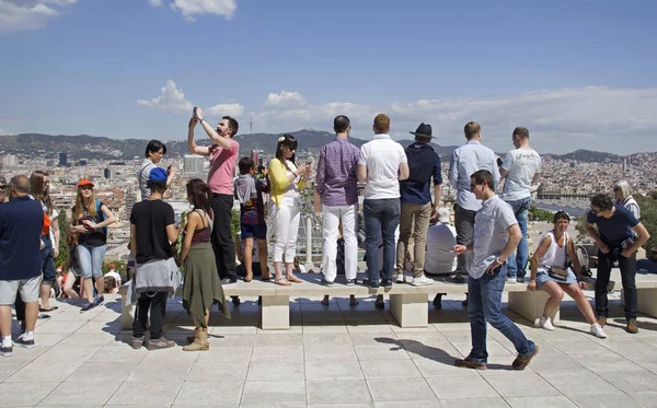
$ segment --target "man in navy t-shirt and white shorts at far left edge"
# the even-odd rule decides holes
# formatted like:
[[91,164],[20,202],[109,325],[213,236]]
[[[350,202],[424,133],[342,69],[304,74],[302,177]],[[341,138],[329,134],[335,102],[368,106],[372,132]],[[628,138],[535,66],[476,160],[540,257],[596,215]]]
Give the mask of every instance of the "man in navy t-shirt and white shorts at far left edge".
[[44,211],[28,197],[30,179],[15,176],[10,182],[9,202],[0,203],[0,355],[13,354],[11,305],[16,291],[25,303],[25,333],[16,342],[34,348],[34,325],[38,314],[41,279],[41,231]]

